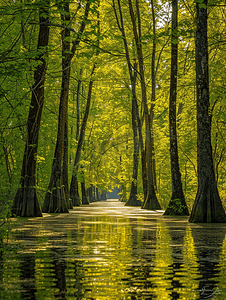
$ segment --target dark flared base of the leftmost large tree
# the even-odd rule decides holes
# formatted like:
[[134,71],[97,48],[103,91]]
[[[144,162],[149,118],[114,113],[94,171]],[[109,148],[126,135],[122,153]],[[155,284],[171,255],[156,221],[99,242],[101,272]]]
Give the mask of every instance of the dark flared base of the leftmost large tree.
[[42,217],[36,189],[33,187],[19,188],[11,212],[13,216],[18,217]]

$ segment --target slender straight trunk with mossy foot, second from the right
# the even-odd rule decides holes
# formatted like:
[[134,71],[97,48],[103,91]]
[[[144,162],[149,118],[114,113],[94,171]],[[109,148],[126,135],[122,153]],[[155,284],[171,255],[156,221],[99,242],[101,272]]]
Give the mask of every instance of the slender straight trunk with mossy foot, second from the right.
[[176,100],[177,100],[177,60],[178,60],[178,0],[172,0],[172,36],[171,36],[171,77],[169,99],[169,132],[170,132],[170,162],[172,195],[164,215],[189,215],[182,188],[179,167],[177,128],[176,128]]

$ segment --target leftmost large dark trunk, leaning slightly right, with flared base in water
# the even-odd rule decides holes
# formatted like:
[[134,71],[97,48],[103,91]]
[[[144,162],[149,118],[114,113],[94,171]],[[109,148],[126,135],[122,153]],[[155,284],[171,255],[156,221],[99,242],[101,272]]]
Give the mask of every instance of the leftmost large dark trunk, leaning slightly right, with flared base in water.
[[46,74],[46,47],[49,41],[49,1],[39,9],[39,36],[36,57],[39,62],[34,72],[31,104],[27,120],[27,140],[22,163],[20,188],[14,198],[12,214],[21,217],[41,217],[42,212],[35,188],[38,137],[44,103],[44,82]]

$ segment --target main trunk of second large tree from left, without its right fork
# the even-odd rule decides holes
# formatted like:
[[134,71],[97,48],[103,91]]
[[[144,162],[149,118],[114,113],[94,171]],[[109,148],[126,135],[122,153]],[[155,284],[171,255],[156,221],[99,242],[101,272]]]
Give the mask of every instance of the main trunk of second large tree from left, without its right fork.
[[[62,6],[64,13],[61,14],[61,20],[63,26],[70,22],[69,3],[65,2]],[[52,164],[52,171],[48,190],[45,195],[43,204],[43,212],[49,213],[67,213],[68,212],[68,191],[65,190],[68,186],[68,133],[65,130],[68,129],[68,95],[69,95],[69,82],[70,82],[70,42],[68,37],[70,36],[70,30],[66,27],[62,30],[62,82],[61,82],[61,95],[60,95],[60,107],[58,116],[58,132],[57,141],[54,153],[54,160]],[[65,148],[66,146],[66,148]],[[66,193],[65,193],[66,192]]]

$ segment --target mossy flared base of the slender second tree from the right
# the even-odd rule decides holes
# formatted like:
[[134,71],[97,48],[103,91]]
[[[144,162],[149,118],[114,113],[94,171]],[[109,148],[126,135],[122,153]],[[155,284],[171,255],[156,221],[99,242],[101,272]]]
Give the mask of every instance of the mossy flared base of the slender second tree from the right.
[[189,216],[185,199],[171,199],[164,216]]

